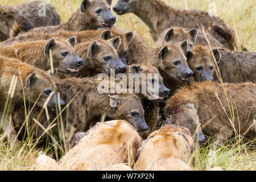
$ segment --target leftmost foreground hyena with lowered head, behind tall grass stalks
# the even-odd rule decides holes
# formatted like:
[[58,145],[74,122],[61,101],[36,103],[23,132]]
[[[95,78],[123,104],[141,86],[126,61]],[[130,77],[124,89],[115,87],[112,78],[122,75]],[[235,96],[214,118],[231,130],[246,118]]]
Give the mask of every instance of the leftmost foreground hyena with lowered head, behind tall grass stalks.
[[[33,74],[34,73],[34,74]],[[33,75],[33,76],[32,76]],[[38,97],[39,100],[36,104],[40,107],[43,107],[44,102],[47,100],[47,96],[43,94],[44,90],[50,89],[53,90],[53,82],[49,75],[41,69],[32,67],[22,61],[11,59],[8,57],[0,56],[0,116],[2,118],[4,107],[6,104],[7,96],[9,94],[9,88],[13,76],[16,76],[17,83],[15,87],[14,97],[11,100],[11,105],[9,107],[8,115],[4,123],[3,130],[10,134],[9,142],[14,142],[14,137],[16,133],[14,130],[13,121],[10,122],[10,114],[14,114],[14,106],[18,102],[22,103],[23,100],[23,90],[24,96],[27,101],[36,102]],[[22,82],[21,82],[22,81]],[[9,101],[10,102],[10,101]],[[23,111],[24,112],[24,111]],[[10,131],[9,131],[10,127]]]

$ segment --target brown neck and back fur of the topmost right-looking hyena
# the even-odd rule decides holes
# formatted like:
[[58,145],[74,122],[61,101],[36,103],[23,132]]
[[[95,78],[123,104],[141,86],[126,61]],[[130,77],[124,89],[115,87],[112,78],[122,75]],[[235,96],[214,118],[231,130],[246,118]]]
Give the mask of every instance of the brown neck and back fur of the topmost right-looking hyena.
[[[85,0],[87,1],[87,0]],[[84,31],[84,30],[97,30],[98,28],[104,28],[101,24],[95,10],[101,7],[104,10],[108,10],[110,5],[105,0],[90,0],[89,7],[85,10],[85,13],[81,13],[79,9],[69,18],[68,22],[61,23],[58,26],[47,26],[40,28],[33,28],[29,32],[41,32],[41,33],[56,33],[60,30],[65,31]]]

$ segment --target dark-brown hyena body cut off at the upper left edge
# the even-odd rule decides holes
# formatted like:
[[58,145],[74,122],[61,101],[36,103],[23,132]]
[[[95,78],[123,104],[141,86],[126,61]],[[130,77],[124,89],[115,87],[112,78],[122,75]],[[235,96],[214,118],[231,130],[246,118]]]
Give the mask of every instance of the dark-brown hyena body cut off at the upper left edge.
[[25,16],[18,13],[11,6],[0,5],[0,41],[5,41],[17,36],[20,32],[26,32],[35,28]]

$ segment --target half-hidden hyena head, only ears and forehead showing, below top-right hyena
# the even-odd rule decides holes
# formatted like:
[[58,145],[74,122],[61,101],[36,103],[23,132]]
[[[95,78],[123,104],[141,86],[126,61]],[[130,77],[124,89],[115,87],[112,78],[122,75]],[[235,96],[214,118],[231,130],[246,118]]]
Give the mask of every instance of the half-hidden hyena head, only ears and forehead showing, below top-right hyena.
[[197,38],[197,30],[185,30],[181,27],[174,27],[169,28],[163,32],[160,36],[159,40],[164,40],[164,42],[171,43],[171,44],[180,44],[187,40],[188,42],[188,51],[191,50],[193,44],[196,43]]

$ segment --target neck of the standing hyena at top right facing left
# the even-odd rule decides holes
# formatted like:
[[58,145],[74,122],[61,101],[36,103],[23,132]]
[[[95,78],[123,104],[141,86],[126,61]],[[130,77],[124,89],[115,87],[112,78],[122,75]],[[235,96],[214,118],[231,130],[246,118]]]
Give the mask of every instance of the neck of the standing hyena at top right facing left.
[[[159,17],[158,14],[164,11],[168,11],[170,14],[171,6],[167,6],[164,2],[160,1],[138,1],[140,4],[137,6],[137,9],[133,12],[137,15],[149,28],[151,32],[158,31],[158,22]],[[167,14],[166,14],[167,15]],[[163,21],[164,19],[162,19]]]

